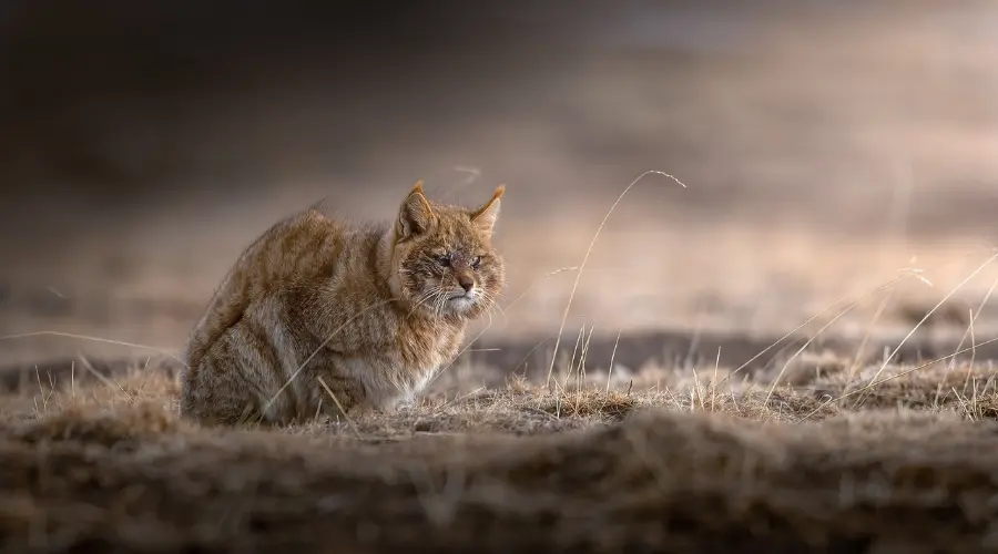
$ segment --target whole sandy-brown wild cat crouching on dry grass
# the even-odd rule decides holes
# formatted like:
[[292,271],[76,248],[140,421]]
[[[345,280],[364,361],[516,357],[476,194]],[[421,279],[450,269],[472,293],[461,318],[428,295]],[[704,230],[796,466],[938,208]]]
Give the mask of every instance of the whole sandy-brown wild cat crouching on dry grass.
[[411,403],[458,355],[466,326],[496,306],[503,192],[466,208],[430,202],[420,181],[390,225],[316,209],[275,224],[191,334],[182,416],[285,424]]

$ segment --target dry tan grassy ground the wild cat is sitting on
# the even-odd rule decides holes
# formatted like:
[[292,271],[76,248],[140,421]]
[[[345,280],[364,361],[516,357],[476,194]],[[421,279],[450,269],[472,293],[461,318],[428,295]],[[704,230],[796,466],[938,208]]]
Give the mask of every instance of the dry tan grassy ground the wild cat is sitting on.
[[879,368],[849,381],[812,366],[795,366],[796,386],[772,393],[736,379],[712,384],[722,368],[627,382],[562,375],[550,387],[451,383],[411,410],[269,431],[180,420],[169,363],[39,370],[0,397],[0,544],[998,547],[998,389],[988,366],[888,367],[868,393],[837,401]]

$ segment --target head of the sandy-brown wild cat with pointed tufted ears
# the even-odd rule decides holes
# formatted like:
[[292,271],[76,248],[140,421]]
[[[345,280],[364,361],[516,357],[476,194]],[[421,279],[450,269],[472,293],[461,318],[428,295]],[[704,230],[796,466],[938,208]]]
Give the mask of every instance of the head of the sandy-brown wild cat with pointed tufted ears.
[[398,211],[391,252],[396,294],[414,310],[472,319],[496,305],[506,274],[491,238],[503,191],[466,208],[430,202],[416,183]]

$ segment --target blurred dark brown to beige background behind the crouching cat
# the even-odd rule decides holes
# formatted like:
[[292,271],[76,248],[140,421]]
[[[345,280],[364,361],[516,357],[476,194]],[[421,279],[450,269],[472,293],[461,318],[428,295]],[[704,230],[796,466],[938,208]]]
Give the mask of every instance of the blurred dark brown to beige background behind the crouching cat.
[[624,197],[563,340],[764,341],[909,276],[823,331],[897,335],[970,276],[959,336],[998,276],[995,2],[7,0],[0,52],[0,335],[179,349],[276,219],[388,219],[419,178],[508,185],[492,345],[558,331],[648,170],[688,187]]

